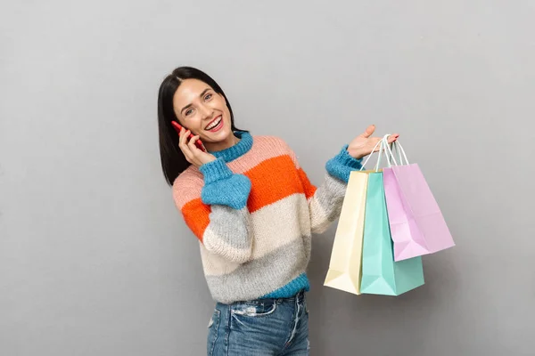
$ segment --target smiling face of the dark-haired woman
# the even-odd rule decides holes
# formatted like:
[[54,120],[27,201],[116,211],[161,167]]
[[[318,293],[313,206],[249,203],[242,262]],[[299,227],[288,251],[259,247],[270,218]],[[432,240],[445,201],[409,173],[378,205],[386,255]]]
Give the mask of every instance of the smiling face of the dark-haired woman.
[[173,96],[173,107],[178,122],[198,134],[208,150],[219,149],[232,138],[225,97],[201,80],[185,79]]

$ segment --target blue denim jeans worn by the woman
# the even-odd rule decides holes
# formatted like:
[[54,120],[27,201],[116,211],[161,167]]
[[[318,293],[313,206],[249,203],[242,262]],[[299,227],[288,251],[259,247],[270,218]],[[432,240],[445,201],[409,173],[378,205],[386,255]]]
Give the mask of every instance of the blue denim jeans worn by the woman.
[[207,350],[209,356],[309,355],[305,292],[291,298],[217,303]]

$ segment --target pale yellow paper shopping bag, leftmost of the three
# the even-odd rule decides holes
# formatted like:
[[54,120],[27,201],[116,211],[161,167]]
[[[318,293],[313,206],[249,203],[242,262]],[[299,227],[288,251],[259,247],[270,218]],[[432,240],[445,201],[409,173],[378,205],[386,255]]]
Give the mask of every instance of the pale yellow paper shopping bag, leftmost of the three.
[[350,173],[324,285],[360,294],[367,173]]

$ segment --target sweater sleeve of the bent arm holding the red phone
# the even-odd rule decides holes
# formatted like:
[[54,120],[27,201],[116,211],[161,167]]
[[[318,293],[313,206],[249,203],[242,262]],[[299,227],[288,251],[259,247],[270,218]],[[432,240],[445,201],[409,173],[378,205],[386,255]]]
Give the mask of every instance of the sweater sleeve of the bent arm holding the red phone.
[[220,158],[199,170],[204,180],[201,198],[190,199],[184,193],[195,189],[187,180],[173,186],[173,198],[185,223],[210,253],[234,263],[247,262],[252,240],[247,209],[251,181],[234,174]]

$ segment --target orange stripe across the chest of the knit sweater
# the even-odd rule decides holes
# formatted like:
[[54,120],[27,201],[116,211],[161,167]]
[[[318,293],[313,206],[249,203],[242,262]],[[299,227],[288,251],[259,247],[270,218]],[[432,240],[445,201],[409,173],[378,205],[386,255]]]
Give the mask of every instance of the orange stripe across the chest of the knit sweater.
[[252,213],[295,193],[304,193],[292,158],[288,155],[269,158],[244,172],[251,180],[247,207]]

